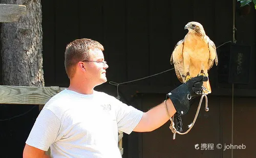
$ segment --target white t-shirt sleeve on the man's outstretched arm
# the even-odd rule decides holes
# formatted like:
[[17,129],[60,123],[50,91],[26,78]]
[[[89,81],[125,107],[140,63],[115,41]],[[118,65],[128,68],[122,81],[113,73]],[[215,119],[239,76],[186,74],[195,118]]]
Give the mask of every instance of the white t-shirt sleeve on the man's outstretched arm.
[[116,103],[118,130],[121,130],[126,134],[131,134],[133,129],[140,122],[143,112],[132,106],[127,106],[125,103],[122,103],[119,100],[116,100]]

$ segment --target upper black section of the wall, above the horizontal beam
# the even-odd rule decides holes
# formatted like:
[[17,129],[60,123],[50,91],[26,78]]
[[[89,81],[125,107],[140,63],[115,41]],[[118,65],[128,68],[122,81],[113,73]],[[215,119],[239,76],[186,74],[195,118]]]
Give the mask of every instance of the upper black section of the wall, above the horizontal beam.
[[[169,64],[170,55],[176,43],[186,35],[187,30],[183,28],[189,21],[201,22],[216,46],[232,40],[231,6],[231,1],[97,0],[72,4],[68,1],[59,3],[55,0],[51,4],[44,1],[43,10],[49,10],[43,12],[42,20],[43,30],[46,32],[43,38],[46,86],[68,86],[63,64],[64,51],[66,45],[77,38],[91,38],[102,43],[105,60],[109,65],[106,73],[109,81],[132,81],[173,68]],[[243,38],[248,37],[245,36],[248,34],[245,30],[249,32],[255,27],[255,20],[249,20],[255,19],[254,14],[251,12],[246,18],[237,15],[238,21],[241,21],[237,24],[237,40],[252,45],[253,52],[255,33],[247,38],[251,42],[245,42]],[[246,24],[242,24],[244,22]],[[217,49],[219,51],[220,48]],[[226,61],[220,59],[219,62]],[[254,77],[253,70],[254,68],[251,71],[251,81]],[[212,88],[223,86],[218,84],[218,67],[212,67],[209,74]],[[129,85],[179,84],[172,70]],[[224,87],[230,88],[231,85],[226,84]],[[240,87],[255,88],[255,84],[251,82],[250,85]]]

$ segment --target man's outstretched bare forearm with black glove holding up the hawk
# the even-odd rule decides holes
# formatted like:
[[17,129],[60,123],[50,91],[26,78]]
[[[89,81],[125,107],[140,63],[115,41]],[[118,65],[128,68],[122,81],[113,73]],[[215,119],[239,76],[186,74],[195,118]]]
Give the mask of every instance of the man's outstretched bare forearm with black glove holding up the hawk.
[[[208,81],[206,76],[192,77],[173,91],[169,92],[167,100],[155,108],[143,113],[143,116],[133,131],[152,131],[166,123],[174,114],[182,116],[190,107],[189,101],[203,93],[203,82]],[[167,111],[166,111],[167,108]],[[169,117],[168,117],[169,116]]]

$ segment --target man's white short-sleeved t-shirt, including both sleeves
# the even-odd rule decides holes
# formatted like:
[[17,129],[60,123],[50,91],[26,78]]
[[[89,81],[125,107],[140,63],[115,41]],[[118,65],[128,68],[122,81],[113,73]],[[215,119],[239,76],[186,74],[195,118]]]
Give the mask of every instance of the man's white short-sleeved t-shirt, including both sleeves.
[[45,104],[26,144],[45,151],[51,147],[51,157],[121,157],[118,130],[130,134],[142,115],[103,92],[65,89]]

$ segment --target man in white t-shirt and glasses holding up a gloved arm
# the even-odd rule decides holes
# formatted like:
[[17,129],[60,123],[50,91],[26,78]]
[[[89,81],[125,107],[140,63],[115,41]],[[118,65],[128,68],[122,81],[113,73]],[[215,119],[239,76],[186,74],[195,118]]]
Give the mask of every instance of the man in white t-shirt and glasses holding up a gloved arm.
[[41,110],[26,141],[24,157],[49,157],[49,147],[51,157],[121,157],[118,130],[126,134],[152,131],[167,122],[169,116],[185,114],[188,98],[202,92],[203,76],[192,78],[168,94],[173,101],[167,99],[143,113],[113,96],[94,91],[106,82],[109,66],[103,50],[99,42],[91,39],[78,39],[67,45],[65,68],[70,86],[53,96]]

